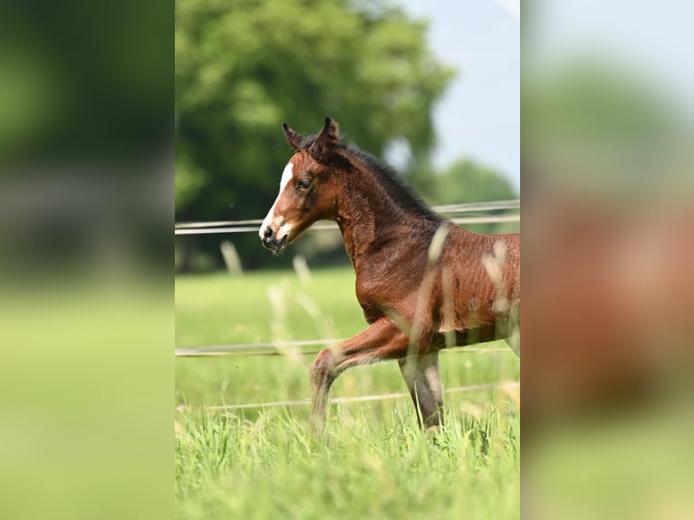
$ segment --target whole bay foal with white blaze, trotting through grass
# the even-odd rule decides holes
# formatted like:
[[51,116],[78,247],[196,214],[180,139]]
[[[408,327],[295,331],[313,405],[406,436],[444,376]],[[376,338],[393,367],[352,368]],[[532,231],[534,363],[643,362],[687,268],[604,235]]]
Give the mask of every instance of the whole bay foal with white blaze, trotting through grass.
[[346,369],[398,360],[425,428],[442,423],[439,351],[506,338],[519,351],[520,237],[479,235],[427,207],[397,174],[344,143],[337,123],[304,137],[284,123],[294,149],[259,235],[278,253],[321,219],[340,227],[369,327],[320,351],[311,368],[313,425]]

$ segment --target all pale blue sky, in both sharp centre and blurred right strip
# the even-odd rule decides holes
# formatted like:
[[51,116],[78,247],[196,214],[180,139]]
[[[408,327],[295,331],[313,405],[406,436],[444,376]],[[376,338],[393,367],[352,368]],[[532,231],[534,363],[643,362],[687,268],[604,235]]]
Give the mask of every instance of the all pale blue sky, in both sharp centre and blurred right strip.
[[[434,111],[439,168],[467,157],[520,186],[520,0],[390,0],[429,20],[429,46],[458,70]],[[546,0],[534,4],[530,65],[573,53],[615,56],[694,111],[694,3]],[[532,67],[530,67],[532,68]]]

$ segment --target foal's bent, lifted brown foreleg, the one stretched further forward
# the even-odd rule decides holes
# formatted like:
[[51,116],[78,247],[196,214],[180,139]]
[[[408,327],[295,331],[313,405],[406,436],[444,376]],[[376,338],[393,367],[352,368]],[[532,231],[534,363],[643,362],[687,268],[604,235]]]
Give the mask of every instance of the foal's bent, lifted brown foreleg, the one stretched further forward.
[[407,335],[390,319],[381,318],[349,340],[320,351],[311,367],[313,427],[323,428],[330,387],[343,371],[357,365],[402,358],[407,349]]

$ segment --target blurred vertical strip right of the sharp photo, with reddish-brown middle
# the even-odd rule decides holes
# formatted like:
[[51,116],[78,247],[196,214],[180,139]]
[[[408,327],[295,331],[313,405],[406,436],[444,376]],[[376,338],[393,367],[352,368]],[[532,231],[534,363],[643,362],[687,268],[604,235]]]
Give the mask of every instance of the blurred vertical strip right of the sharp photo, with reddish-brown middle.
[[523,6],[522,513],[689,518],[692,7]]

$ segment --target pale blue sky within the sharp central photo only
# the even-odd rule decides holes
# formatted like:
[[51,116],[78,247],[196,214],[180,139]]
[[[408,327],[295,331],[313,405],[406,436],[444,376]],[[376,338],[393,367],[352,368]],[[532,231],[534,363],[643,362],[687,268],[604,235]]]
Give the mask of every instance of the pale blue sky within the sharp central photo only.
[[458,70],[434,111],[434,163],[460,158],[496,169],[520,187],[518,0],[392,0],[429,20],[429,46]]

